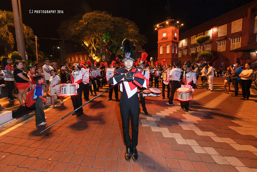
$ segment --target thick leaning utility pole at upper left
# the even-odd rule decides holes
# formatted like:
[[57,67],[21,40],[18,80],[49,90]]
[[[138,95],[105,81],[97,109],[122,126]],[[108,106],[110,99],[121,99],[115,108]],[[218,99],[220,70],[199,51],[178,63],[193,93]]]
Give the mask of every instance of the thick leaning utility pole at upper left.
[[[13,10],[14,25],[15,25],[17,49],[18,49],[18,52],[21,53],[22,59],[26,61],[25,46],[24,46],[24,41],[22,41],[23,32],[21,32],[22,26],[19,19],[17,0],[11,0],[11,3],[12,3],[12,10]],[[25,63],[24,67],[25,69],[27,69],[27,63]]]

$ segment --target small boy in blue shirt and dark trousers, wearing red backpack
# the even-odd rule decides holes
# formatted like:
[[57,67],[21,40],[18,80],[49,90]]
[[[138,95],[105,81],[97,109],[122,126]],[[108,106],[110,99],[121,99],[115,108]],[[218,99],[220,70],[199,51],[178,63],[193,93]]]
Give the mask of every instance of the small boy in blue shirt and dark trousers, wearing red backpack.
[[43,122],[47,119],[47,117],[45,117],[45,113],[43,110],[43,101],[47,101],[47,99],[45,99],[44,96],[44,91],[42,88],[42,83],[44,82],[43,76],[41,75],[36,75],[33,77],[34,81],[36,82],[36,86],[37,88],[34,89],[34,96],[33,96],[33,100],[36,100],[36,105],[35,105],[35,114],[36,114],[36,126],[40,126],[40,125],[45,125],[46,122]]

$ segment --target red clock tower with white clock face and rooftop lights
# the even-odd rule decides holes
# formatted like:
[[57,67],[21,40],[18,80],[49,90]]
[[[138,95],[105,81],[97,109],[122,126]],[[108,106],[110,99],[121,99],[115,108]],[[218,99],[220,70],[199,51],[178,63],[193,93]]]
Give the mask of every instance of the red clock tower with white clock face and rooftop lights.
[[178,61],[178,34],[183,24],[174,19],[166,20],[154,26],[158,30],[158,62],[166,64]]

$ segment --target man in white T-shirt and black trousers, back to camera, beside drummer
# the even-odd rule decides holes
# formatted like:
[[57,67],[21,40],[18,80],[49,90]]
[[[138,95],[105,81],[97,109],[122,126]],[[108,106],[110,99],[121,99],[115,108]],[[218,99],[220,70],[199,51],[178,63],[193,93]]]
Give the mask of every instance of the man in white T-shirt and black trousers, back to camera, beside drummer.
[[171,82],[171,96],[169,99],[169,102],[167,102],[167,105],[173,105],[173,99],[174,99],[174,94],[176,92],[176,89],[180,88],[181,85],[179,83],[181,72],[183,71],[180,69],[181,63],[177,62],[176,63],[176,68],[171,70],[170,76],[172,77],[172,82]]

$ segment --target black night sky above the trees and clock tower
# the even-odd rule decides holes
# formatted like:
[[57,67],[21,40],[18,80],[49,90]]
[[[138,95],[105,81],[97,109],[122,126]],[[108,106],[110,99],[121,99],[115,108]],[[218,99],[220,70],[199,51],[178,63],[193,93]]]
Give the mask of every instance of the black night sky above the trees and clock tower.
[[[153,25],[174,19],[184,26],[185,32],[197,25],[232,11],[253,0],[20,0],[22,21],[34,31],[37,37],[55,38],[60,22],[76,14],[93,10],[107,11],[115,17],[123,17],[138,25],[140,33],[146,35],[146,51],[157,48],[157,31]],[[168,8],[167,8],[168,7]],[[0,0],[0,9],[12,11],[11,0]],[[63,13],[35,14],[30,10],[61,10]],[[51,54],[52,46],[60,40],[39,39],[41,50]]]

